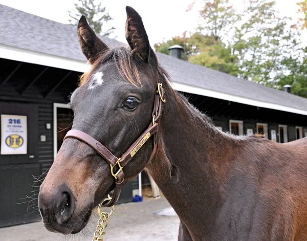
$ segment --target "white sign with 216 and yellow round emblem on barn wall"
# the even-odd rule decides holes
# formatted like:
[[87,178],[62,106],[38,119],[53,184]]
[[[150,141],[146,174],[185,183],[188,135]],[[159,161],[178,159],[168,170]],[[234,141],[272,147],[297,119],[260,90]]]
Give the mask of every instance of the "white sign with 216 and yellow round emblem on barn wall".
[[1,155],[27,154],[27,116],[1,115]]

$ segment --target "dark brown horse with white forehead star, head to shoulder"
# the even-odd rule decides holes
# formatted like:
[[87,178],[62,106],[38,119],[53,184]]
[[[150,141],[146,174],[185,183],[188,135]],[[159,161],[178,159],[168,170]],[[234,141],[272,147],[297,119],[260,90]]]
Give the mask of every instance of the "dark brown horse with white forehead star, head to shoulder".
[[[307,240],[307,139],[279,144],[220,132],[171,88],[141,17],[126,11],[128,48],[109,49],[80,19],[79,40],[92,69],[71,96],[72,128],[109,153],[103,158],[95,146],[65,139],[40,187],[46,228],[70,234],[85,227],[118,185],[107,163],[111,154],[121,157],[153,117],[156,134],[118,170],[124,182],[144,168],[150,173],[180,217],[179,240]],[[166,102],[157,121],[159,83]]]

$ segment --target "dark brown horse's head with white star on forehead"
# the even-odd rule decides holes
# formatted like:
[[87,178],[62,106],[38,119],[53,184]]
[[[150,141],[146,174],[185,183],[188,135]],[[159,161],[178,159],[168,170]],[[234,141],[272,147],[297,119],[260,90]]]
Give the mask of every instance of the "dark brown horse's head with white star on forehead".
[[[78,24],[82,52],[92,64],[71,96],[72,129],[102,143],[116,157],[140,137],[152,121],[161,73],[141,17],[127,7],[128,48],[109,49],[87,24]],[[125,181],[146,166],[153,149],[149,138],[123,168]],[[89,144],[65,139],[46,179],[38,205],[46,228],[63,234],[83,229],[96,207],[115,187],[109,163]]]

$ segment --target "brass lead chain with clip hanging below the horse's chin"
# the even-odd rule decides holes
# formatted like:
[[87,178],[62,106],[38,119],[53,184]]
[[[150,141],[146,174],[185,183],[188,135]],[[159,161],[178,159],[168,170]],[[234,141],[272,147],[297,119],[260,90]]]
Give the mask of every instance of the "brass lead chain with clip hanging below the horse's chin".
[[102,235],[104,235],[106,232],[105,232],[105,228],[107,227],[107,224],[108,224],[108,219],[109,217],[112,215],[113,211],[114,211],[114,205],[112,206],[112,210],[111,212],[107,213],[107,212],[102,212],[101,211],[101,207],[102,207],[102,204],[105,202],[105,201],[109,201],[111,200],[111,196],[108,195],[108,197],[106,199],[104,199],[100,204],[99,204],[99,207],[98,207],[98,212],[99,212],[99,215],[100,215],[100,218],[98,220],[98,225],[96,227],[96,230],[94,232],[94,237],[93,237],[93,241],[103,241],[103,237]]

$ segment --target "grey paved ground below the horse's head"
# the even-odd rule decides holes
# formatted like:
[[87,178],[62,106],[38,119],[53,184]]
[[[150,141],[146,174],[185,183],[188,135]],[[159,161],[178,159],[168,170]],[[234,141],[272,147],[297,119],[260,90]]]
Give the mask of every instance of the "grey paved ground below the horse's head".
[[[169,216],[172,211],[165,198],[144,200],[142,203],[128,203],[115,206],[109,218],[105,241],[171,241],[177,240],[179,218]],[[161,209],[165,209],[161,212]],[[157,212],[158,211],[158,212]],[[167,216],[158,216],[162,213]],[[0,229],[1,241],[57,241],[92,240],[98,222],[98,215],[92,216],[85,231],[80,234],[63,236],[48,232],[41,222]]]

